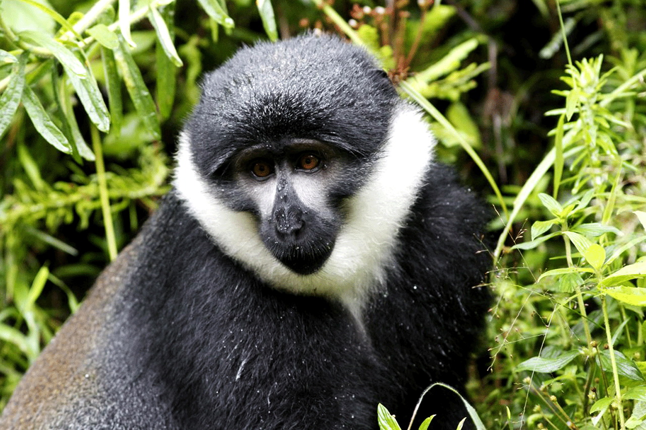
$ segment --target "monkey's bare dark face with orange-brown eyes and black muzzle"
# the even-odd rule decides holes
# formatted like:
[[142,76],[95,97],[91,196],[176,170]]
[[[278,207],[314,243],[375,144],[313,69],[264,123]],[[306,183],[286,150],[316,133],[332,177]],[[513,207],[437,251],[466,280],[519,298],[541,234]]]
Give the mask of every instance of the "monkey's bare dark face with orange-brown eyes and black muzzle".
[[343,199],[356,188],[344,180],[348,154],[319,141],[286,139],[251,145],[228,166],[222,173],[233,179],[227,201],[255,216],[267,250],[293,272],[318,271],[334,249]]

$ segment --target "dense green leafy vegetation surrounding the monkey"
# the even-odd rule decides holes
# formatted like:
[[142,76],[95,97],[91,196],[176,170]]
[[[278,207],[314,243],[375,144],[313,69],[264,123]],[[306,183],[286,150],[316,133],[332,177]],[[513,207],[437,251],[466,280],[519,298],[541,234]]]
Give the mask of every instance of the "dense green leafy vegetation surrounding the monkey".
[[200,74],[313,28],[497,211],[484,427],[646,429],[643,0],[1,0],[0,407],[169,189]]

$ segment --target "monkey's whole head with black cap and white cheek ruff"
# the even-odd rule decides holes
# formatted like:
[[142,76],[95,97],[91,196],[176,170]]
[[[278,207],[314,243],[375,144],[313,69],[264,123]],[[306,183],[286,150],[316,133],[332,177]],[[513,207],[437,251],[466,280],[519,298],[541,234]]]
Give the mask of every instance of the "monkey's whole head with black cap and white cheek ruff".
[[289,291],[379,278],[433,138],[375,60],[333,37],[261,43],[202,90],[174,185],[214,241]]

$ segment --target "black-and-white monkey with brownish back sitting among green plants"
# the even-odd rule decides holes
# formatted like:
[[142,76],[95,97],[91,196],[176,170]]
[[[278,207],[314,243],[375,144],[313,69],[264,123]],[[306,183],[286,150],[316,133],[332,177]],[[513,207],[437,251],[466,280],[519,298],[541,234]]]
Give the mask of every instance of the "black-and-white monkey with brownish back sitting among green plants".
[[[30,367],[3,429],[377,429],[463,391],[488,209],[364,48],[307,34],[202,81],[172,190]],[[466,410],[435,388],[433,429]],[[415,427],[417,428],[417,427]]]

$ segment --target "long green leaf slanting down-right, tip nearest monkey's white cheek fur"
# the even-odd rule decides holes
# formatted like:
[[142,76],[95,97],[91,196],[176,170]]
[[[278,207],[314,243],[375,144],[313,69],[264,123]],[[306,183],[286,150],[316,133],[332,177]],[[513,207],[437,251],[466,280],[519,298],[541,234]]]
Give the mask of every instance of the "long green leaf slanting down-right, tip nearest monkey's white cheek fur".
[[130,99],[132,99],[135,109],[141,115],[141,120],[146,128],[152,132],[154,138],[159,139],[161,131],[157,108],[123,37],[119,38],[119,47],[114,50],[114,57],[121,70],[121,76],[123,76]]

